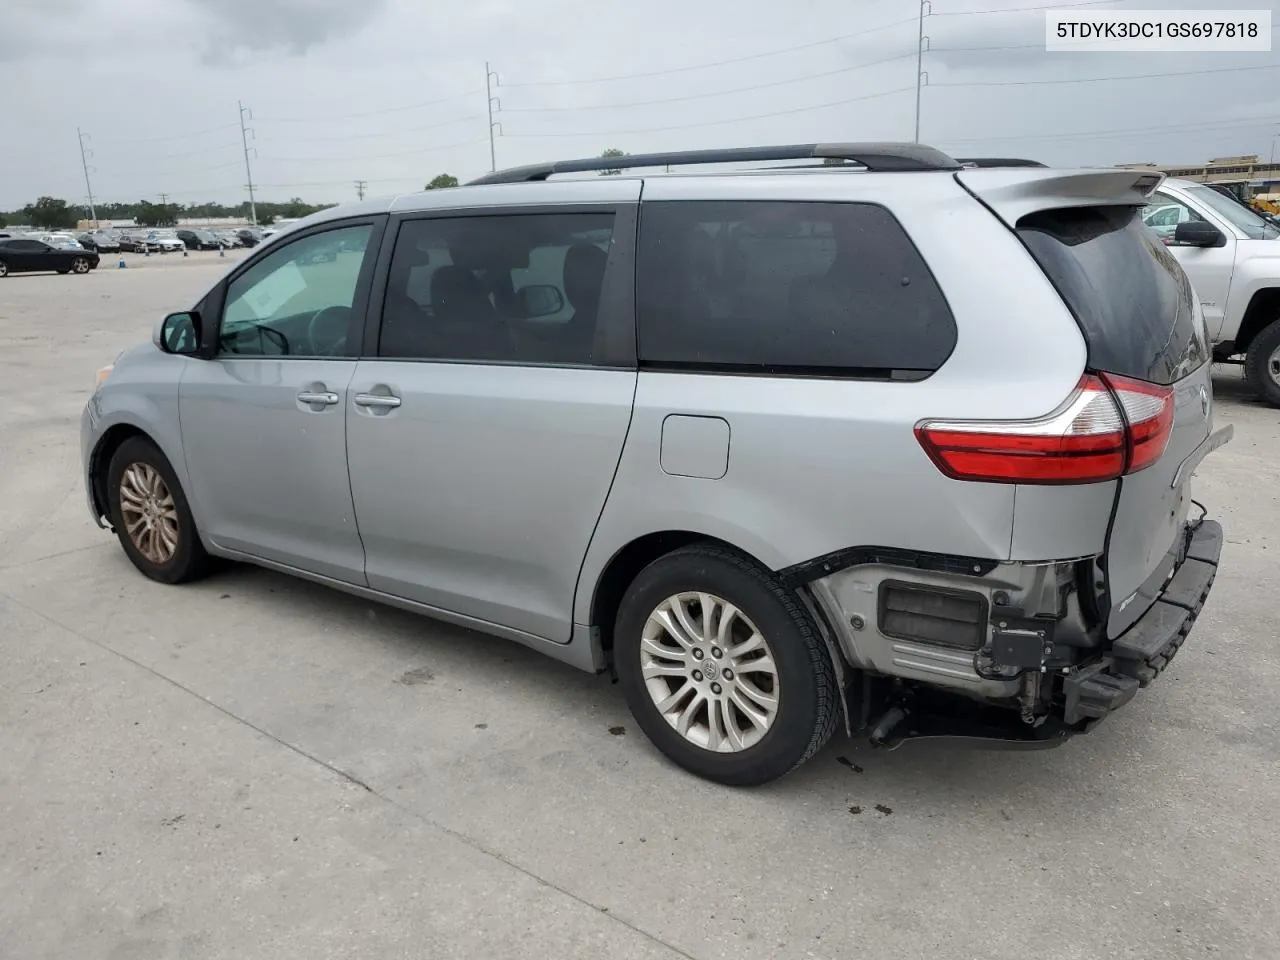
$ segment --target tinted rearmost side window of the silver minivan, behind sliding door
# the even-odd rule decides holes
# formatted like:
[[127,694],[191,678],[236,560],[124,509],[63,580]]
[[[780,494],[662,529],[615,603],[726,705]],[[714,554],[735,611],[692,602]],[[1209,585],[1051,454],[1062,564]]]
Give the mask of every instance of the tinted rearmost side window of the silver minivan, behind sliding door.
[[928,266],[873,204],[644,204],[636,269],[649,367],[919,378],[956,343]]

